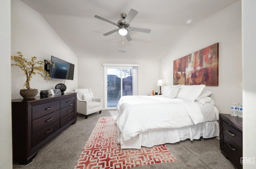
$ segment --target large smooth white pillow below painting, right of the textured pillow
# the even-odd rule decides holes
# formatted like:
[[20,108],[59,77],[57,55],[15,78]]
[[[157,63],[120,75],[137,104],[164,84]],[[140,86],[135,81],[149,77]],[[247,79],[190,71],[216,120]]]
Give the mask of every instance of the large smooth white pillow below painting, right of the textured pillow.
[[177,98],[194,102],[202,93],[205,85],[181,85]]

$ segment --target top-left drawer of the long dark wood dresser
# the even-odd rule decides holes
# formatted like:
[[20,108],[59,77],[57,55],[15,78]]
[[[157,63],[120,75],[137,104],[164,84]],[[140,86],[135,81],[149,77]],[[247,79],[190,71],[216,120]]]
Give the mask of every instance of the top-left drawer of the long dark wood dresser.
[[32,120],[60,109],[60,101],[52,101],[32,107]]

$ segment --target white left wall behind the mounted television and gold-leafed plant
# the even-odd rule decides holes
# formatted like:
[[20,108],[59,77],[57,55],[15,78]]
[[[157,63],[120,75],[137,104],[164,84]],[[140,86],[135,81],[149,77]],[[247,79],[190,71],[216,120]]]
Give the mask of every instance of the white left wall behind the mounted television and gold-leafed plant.
[[[51,56],[66,60],[75,65],[74,80],[53,79],[46,82],[39,75],[32,76],[30,87],[40,90],[54,89],[56,84],[64,83],[65,92],[73,91],[78,86],[78,58],[52,27],[35,10],[21,2],[11,1],[11,55],[20,51],[24,57],[30,59],[36,56],[38,60],[50,61]],[[22,98],[20,89],[26,81],[26,76],[20,68],[12,66],[12,99]]]

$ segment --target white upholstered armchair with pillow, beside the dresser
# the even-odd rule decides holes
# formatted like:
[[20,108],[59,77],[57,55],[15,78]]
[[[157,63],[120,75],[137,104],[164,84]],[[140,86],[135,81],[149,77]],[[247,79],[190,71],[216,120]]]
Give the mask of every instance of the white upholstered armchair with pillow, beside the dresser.
[[77,95],[77,113],[84,114],[88,118],[89,114],[102,110],[102,99],[94,98],[91,89],[75,89]]

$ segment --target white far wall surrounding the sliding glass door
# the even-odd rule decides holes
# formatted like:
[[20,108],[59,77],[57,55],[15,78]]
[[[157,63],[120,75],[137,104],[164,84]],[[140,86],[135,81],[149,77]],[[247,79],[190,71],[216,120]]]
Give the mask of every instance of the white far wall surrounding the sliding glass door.
[[105,87],[102,64],[138,64],[138,95],[151,94],[152,90],[159,93],[159,60],[79,58],[78,88],[91,88],[94,97],[102,98],[103,103]]

